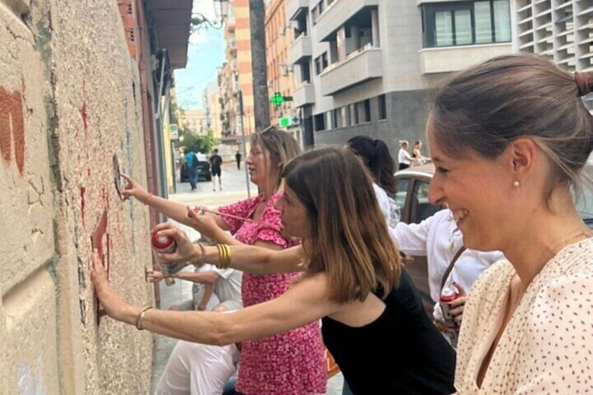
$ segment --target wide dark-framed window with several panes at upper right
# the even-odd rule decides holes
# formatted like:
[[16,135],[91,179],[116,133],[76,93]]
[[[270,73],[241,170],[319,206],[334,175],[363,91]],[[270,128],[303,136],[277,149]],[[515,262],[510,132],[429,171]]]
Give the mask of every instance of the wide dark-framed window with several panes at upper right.
[[424,48],[510,41],[508,0],[427,3],[422,6]]

